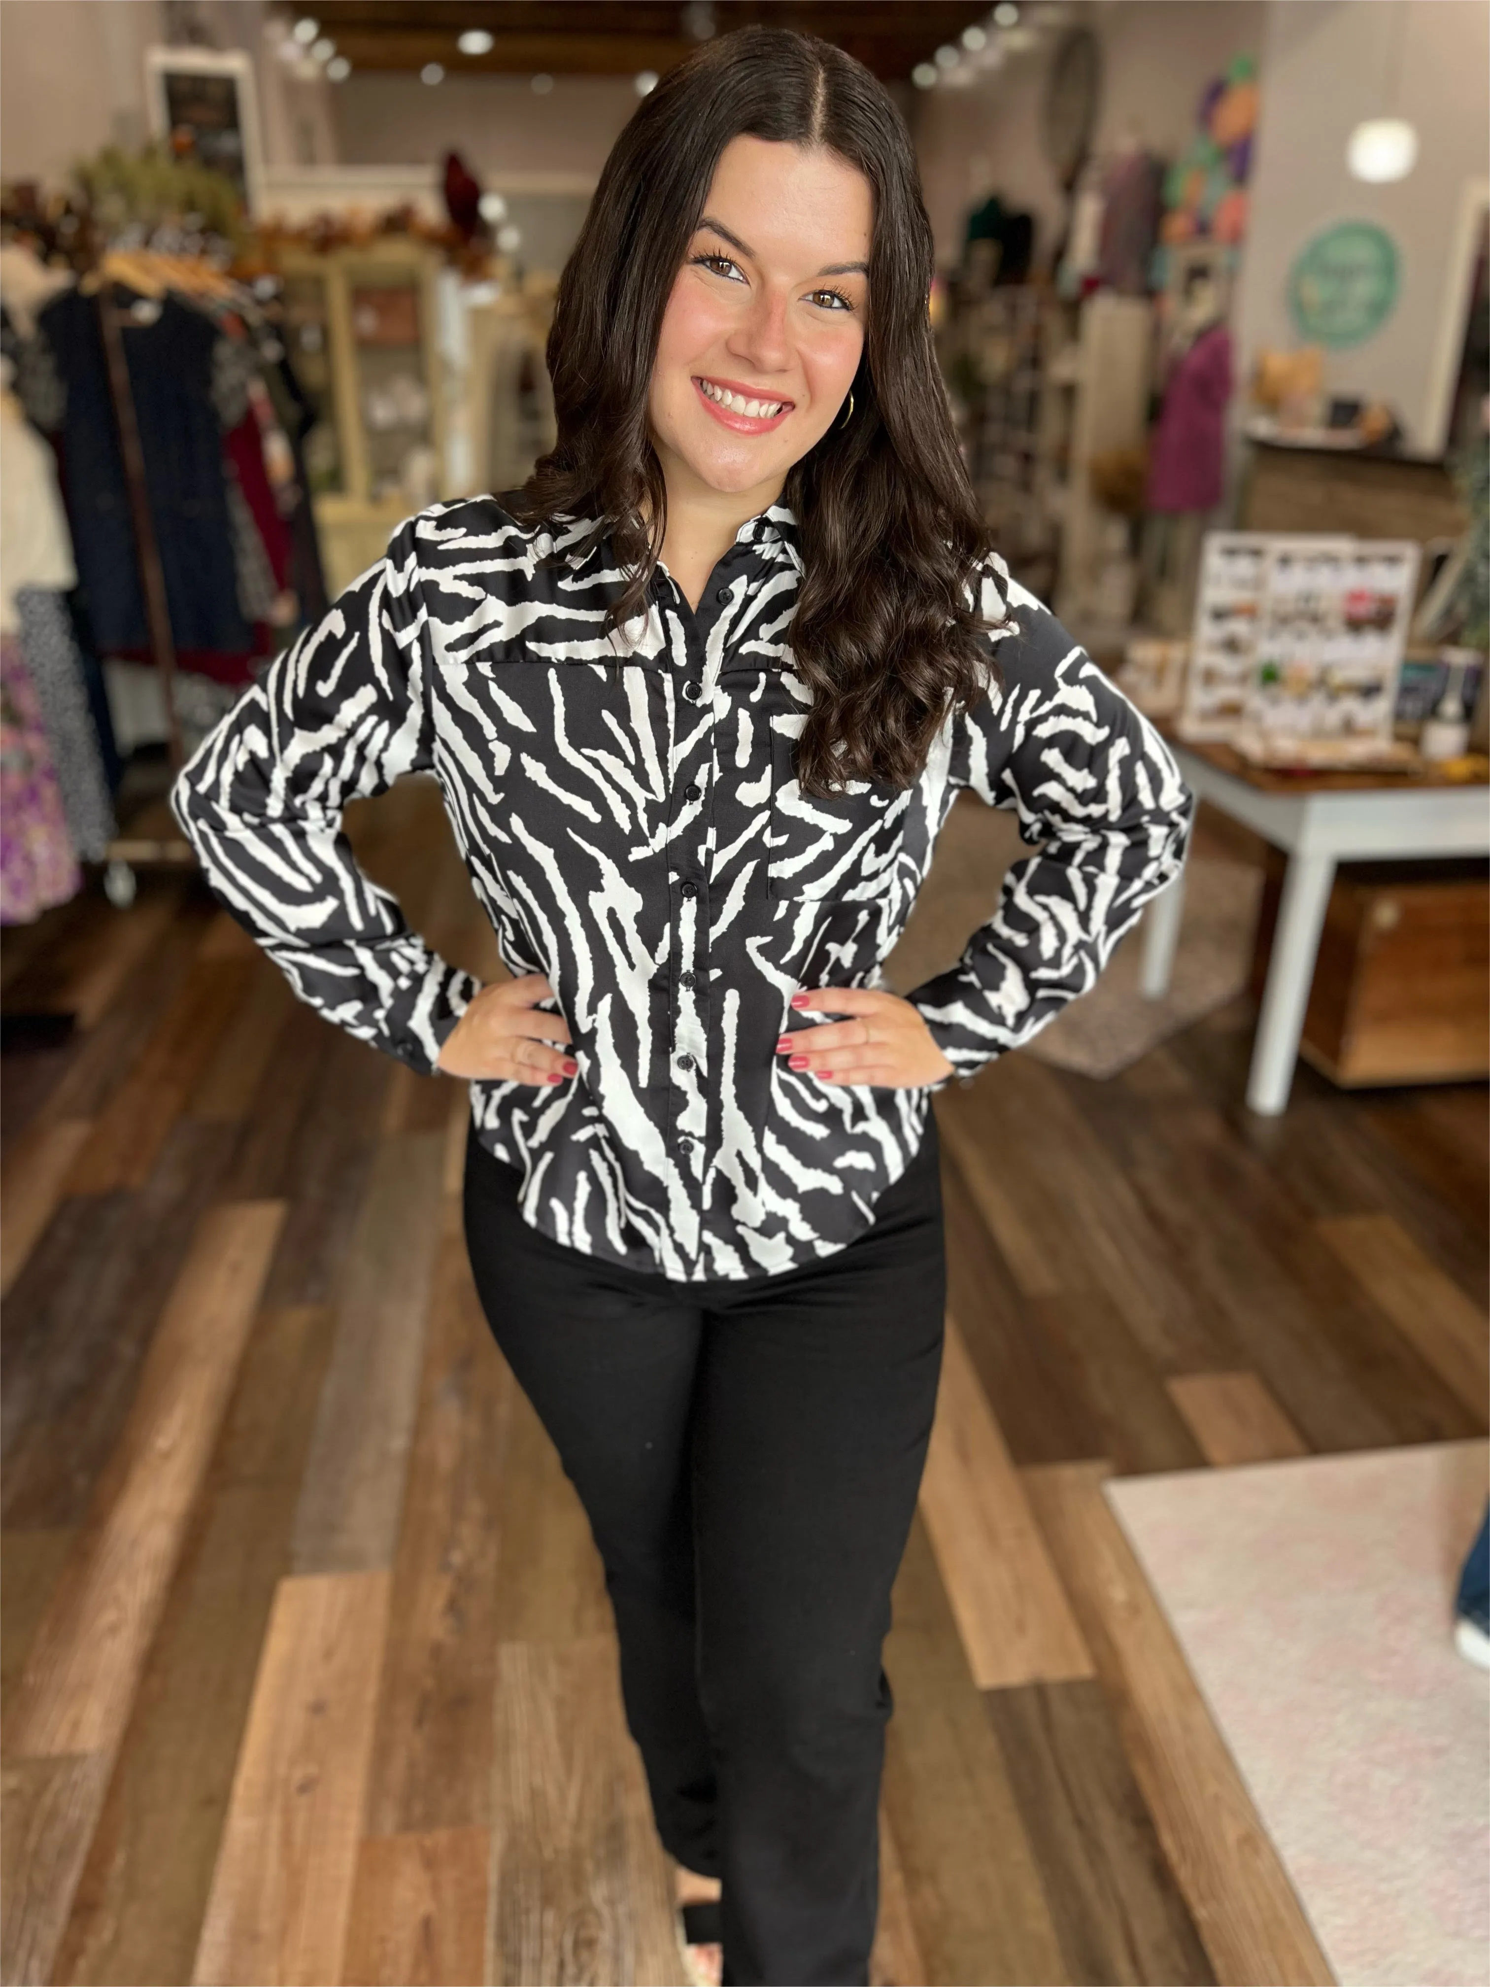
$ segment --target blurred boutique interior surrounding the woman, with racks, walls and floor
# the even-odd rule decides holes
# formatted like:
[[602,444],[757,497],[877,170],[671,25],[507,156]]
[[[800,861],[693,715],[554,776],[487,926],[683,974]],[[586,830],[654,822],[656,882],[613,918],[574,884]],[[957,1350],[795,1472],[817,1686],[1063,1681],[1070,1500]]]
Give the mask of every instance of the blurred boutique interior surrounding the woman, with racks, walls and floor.
[[[552,447],[606,155],[755,20],[890,87],[1011,582],[1198,797],[936,1097],[872,1979],[1486,1979],[1490,4],[0,0],[8,1981],[681,1979],[467,1091],[296,1001],[167,793]],[[344,827],[505,974],[435,779]],[[1021,852],[964,793],[884,984]]]

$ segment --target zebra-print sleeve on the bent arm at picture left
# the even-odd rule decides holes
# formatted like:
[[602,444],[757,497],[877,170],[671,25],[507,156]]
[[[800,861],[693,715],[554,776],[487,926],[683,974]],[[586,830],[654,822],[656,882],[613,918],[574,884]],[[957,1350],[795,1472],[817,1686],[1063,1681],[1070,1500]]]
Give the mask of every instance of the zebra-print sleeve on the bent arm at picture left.
[[209,731],[171,811],[300,999],[433,1073],[479,982],[409,930],[342,833],[348,801],[433,765],[423,620],[409,521]]

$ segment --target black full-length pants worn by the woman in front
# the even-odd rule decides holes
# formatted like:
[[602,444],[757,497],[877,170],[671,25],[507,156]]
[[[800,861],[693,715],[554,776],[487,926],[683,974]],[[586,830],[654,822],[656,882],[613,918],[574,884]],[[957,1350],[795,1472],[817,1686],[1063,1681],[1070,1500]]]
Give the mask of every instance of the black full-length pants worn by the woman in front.
[[481,1303],[588,1512],[664,1846],[725,1981],[868,1981],[880,1663],[942,1367],[936,1123],[844,1250],[681,1284],[564,1248],[471,1135]]

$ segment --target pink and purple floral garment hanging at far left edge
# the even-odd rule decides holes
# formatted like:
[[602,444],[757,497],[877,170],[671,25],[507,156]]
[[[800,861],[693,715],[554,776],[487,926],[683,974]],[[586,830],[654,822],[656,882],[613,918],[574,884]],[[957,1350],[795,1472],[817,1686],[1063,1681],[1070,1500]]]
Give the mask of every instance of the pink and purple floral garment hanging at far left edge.
[[0,636],[0,924],[30,924],[81,886],[32,672]]

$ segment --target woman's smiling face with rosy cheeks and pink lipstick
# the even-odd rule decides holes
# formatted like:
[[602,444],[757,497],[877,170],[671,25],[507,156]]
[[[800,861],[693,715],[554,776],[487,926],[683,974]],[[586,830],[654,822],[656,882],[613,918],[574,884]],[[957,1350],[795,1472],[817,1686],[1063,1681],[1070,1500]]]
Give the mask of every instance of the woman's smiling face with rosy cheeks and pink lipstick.
[[864,350],[874,199],[836,153],[737,137],[668,298],[648,401],[670,493],[771,503]]

